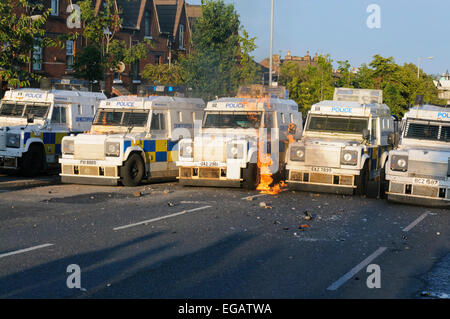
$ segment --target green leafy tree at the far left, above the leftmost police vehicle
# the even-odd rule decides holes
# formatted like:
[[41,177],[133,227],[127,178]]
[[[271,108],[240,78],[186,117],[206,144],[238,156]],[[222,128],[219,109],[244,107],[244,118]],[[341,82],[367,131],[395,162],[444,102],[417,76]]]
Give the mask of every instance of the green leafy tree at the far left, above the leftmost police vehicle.
[[51,9],[43,1],[0,1],[0,77],[12,87],[29,86],[40,76],[29,71],[35,47],[62,47],[47,37],[45,23]]

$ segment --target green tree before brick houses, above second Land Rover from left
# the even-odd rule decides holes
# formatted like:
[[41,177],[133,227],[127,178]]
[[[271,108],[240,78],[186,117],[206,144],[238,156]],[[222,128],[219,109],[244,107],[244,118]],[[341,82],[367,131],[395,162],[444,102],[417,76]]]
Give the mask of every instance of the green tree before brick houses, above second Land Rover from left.
[[[95,2],[91,0],[82,0],[78,5],[84,27],[82,35],[89,45],[75,59],[75,76],[89,76],[86,79],[99,80],[105,76],[105,72],[115,71],[121,62],[132,64],[147,56],[150,41],[129,46],[125,41],[117,39],[116,35],[123,21],[120,18],[121,9],[115,0],[104,0],[98,12],[95,12]],[[89,52],[97,54],[96,51],[100,52],[99,64],[89,57]]]

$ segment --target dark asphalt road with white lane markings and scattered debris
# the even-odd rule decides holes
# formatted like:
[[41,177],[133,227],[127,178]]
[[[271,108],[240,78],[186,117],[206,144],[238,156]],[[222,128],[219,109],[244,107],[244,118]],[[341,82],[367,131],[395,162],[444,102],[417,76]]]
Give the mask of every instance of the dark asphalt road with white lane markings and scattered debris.
[[[448,210],[41,179],[0,176],[0,298],[423,298],[450,290]],[[72,264],[82,289],[66,285]],[[368,288],[369,264],[379,265],[381,288]]]

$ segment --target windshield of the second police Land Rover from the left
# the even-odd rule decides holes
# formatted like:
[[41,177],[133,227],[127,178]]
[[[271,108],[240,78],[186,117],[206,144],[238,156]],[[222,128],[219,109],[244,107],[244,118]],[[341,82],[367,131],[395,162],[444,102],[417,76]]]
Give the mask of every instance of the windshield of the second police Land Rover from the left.
[[145,127],[148,122],[148,110],[101,109],[97,112],[94,125]]

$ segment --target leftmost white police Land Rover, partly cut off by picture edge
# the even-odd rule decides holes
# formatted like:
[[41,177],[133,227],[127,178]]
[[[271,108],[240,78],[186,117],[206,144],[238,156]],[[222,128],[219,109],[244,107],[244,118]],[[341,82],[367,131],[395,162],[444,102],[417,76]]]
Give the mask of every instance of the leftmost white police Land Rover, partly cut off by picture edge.
[[7,91],[0,106],[0,168],[34,176],[57,164],[62,138],[89,130],[104,99],[84,91]]

